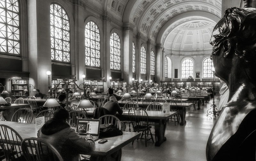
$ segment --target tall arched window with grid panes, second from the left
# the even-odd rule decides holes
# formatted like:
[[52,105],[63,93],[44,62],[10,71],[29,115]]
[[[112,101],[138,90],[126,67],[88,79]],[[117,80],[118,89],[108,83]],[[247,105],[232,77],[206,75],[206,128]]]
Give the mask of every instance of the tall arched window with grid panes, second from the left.
[[58,4],[51,4],[51,53],[52,60],[70,62],[70,22],[66,11]]

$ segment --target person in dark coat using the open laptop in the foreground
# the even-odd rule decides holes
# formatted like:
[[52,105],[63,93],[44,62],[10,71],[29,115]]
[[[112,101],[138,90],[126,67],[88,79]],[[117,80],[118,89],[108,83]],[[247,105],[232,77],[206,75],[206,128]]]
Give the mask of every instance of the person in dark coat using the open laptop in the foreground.
[[38,138],[52,144],[64,161],[78,161],[79,154],[90,155],[92,153],[95,143],[90,135],[86,138],[80,137],[73,128],[70,128],[69,124],[68,111],[63,108],[57,109],[53,118],[38,131]]

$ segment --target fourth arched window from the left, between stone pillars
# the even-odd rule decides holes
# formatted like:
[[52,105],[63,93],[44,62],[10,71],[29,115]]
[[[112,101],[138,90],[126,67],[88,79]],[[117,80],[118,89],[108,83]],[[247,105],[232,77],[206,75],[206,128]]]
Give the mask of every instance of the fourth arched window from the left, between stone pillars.
[[110,69],[121,70],[121,42],[117,33],[110,37]]

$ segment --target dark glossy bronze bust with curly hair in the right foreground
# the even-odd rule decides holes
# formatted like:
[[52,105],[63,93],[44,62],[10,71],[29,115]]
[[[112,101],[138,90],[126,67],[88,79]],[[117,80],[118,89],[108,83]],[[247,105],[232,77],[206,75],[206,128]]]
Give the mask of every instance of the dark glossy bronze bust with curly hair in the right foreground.
[[227,9],[210,43],[215,75],[228,85],[229,98],[212,128],[206,159],[255,160],[256,9]]

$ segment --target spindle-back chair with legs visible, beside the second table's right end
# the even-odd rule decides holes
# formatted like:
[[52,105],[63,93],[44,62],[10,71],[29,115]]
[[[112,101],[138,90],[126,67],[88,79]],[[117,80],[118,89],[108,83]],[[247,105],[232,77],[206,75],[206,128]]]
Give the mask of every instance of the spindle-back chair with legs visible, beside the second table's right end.
[[[137,110],[140,110],[140,112],[137,112]],[[154,139],[153,139],[153,135],[151,133],[150,128],[152,128],[152,126],[148,125],[148,113],[140,107],[131,107],[129,109],[129,118],[132,122],[132,127],[134,132],[142,132],[140,140],[141,139],[145,139],[145,145],[147,146],[147,141],[152,139],[153,143],[154,143]],[[151,138],[147,138],[147,132],[150,132],[150,136]],[[143,138],[143,135],[145,133],[145,138]],[[137,139],[139,140],[139,138]],[[134,141],[132,141],[133,144]]]

